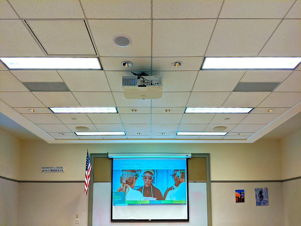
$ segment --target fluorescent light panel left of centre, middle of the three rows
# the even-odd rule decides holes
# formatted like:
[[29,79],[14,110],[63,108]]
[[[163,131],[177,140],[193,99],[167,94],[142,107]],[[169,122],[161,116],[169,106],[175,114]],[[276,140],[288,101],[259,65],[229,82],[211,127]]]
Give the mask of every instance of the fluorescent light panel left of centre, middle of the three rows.
[[117,113],[114,108],[49,108],[53,113]]

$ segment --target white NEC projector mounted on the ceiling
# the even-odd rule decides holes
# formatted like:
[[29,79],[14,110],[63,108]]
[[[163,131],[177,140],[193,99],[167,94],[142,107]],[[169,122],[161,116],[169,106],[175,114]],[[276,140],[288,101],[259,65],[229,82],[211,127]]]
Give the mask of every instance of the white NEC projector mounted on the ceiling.
[[157,99],[162,97],[162,77],[145,76],[147,80],[137,76],[123,76],[122,89],[127,99]]

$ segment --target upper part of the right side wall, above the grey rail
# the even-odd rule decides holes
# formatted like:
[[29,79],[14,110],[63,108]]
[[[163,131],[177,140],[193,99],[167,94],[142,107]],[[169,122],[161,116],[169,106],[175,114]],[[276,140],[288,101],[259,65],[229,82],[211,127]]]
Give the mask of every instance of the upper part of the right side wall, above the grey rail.
[[301,176],[301,130],[281,141],[282,178]]

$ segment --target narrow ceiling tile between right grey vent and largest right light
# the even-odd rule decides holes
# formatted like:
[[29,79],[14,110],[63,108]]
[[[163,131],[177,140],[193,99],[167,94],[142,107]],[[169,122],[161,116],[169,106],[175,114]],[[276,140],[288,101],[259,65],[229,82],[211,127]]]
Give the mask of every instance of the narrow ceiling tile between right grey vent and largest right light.
[[293,71],[247,71],[240,82],[282,82]]

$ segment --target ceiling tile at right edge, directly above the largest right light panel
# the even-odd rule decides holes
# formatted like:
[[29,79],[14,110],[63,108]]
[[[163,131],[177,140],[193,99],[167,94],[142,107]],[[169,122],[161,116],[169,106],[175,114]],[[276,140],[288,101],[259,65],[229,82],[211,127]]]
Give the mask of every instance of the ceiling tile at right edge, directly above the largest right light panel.
[[300,56],[301,21],[283,20],[258,56]]

